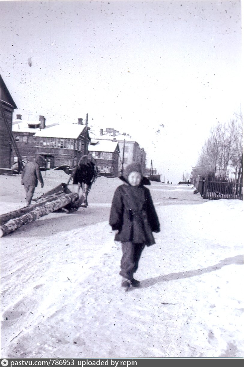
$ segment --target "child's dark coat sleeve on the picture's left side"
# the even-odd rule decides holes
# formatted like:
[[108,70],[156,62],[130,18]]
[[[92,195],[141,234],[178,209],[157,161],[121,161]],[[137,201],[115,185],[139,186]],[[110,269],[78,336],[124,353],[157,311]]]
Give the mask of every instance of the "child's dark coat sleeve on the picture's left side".
[[118,187],[114,192],[109,216],[109,224],[112,227],[112,230],[115,229],[118,229],[119,231],[121,230],[123,225],[123,210],[124,210],[123,199],[121,195],[121,190]]

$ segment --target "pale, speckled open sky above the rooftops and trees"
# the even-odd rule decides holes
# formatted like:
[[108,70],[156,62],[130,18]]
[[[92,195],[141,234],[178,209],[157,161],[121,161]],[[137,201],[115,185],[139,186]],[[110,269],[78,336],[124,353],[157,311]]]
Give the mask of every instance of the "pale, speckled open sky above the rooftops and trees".
[[240,111],[241,1],[0,1],[0,73],[23,119],[130,134],[177,183]]

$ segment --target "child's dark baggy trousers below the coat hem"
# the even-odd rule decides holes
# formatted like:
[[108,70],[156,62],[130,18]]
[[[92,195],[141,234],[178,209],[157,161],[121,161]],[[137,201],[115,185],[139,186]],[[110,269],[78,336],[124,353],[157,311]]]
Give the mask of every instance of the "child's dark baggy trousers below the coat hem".
[[125,279],[133,279],[133,274],[138,269],[139,259],[145,247],[143,243],[122,242],[122,258],[120,262],[120,275]]

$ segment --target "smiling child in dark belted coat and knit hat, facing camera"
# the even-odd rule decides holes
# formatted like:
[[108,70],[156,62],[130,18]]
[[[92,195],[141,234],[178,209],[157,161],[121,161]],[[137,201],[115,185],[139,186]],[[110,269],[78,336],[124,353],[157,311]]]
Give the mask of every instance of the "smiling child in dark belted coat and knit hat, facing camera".
[[116,230],[115,240],[121,241],[120,275],[122,287],[139,287],[134,279],[143,248],[155,243],[152,232],[160,232],[160,223],[139,163],[129,164],[120,179],[124,182],[115,190],[109,224]]

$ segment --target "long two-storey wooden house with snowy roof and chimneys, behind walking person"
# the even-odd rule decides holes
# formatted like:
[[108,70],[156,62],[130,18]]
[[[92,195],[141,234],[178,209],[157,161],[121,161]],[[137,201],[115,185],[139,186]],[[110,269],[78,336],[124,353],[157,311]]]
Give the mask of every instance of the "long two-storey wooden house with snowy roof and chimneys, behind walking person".
[[22,159],[33,160],[40,154],[45,158],[47,168],[61,164],[75,166],[88,152],[88,129],[83,119],[78,119],[77,124],[46,125],[44,116],[40,116],[38,121],[26,121],[21,119],[21,115],[17,115],[12,128]]

